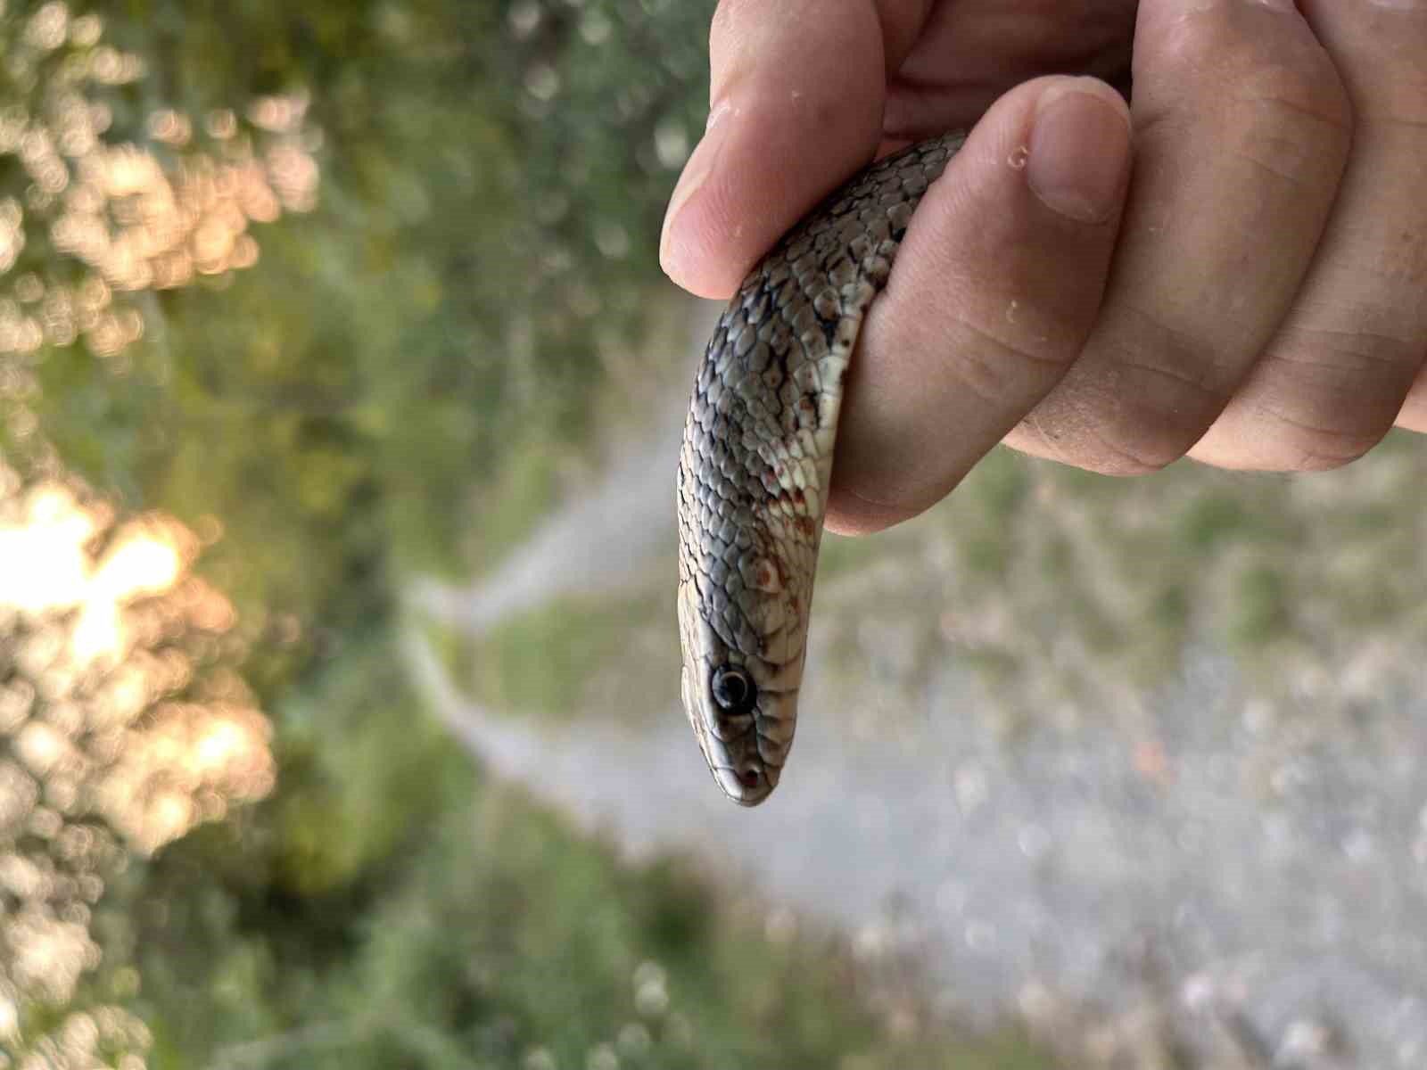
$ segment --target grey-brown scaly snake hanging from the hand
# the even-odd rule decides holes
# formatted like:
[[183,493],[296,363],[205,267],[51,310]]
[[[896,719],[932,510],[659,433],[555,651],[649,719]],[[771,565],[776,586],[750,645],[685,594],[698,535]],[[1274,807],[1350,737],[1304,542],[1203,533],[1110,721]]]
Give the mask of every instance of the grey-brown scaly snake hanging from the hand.
[[843,382],[949,133],[875,161],[748,274],[694,381],[678,474],[679,692],[723,793],[756,806],[798,725]]

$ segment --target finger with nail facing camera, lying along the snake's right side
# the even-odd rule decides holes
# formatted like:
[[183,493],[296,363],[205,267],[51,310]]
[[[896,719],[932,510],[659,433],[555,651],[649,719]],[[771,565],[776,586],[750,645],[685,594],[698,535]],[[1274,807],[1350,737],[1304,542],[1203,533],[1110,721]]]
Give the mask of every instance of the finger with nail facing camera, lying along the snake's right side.
[[929,508],[1080,354],[1110,270],[1130,118],[1093,78],[1003,96],[928,191],[848,374],[828,528]]

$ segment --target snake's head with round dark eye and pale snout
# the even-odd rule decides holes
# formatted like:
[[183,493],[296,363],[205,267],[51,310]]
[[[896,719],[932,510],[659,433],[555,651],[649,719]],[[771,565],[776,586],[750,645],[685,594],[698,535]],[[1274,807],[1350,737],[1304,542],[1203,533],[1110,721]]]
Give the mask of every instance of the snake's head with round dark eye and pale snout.
[[775,665],[733,649],[705,619],[695,584],[679,585],[684,710],[723,793],[739,806],[766,799],[798,719],[802,652]]

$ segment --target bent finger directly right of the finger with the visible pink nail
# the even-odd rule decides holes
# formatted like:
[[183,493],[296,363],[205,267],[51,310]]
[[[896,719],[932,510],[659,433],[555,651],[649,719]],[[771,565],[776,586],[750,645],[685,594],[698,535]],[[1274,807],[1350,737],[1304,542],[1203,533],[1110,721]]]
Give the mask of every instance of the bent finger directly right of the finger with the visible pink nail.
[[1291,0],[1144,0],[1136,171],[1100,318],[1006,442],[1112,475],[1182,457],[1291,305],[1351,141]]

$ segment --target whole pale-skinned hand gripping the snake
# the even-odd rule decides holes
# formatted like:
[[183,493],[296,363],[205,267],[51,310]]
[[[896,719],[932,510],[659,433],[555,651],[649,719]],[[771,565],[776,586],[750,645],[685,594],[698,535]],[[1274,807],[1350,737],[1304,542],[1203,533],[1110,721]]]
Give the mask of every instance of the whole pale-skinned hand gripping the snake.
[[661,243],[702,297],[975,123],[863,327],[832,531],[1000,441],[1293,472],[1427,432],[1427,0],[722,0],[711,61]]

